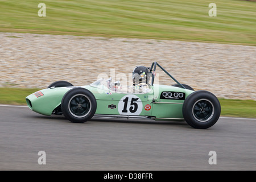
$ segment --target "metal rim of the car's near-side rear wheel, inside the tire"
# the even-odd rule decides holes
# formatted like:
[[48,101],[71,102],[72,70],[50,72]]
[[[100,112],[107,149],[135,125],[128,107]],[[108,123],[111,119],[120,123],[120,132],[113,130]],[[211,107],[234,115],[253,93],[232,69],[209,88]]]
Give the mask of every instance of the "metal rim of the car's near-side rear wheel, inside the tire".
[[201,99],[195,102],[192,107],[193,117],[199,122],[209,121],[214,114],[214,106],[207,99]]

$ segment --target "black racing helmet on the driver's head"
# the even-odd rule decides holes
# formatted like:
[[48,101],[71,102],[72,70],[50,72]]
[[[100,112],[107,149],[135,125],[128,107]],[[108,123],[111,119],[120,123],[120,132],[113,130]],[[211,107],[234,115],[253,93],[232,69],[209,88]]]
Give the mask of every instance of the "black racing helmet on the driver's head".
[[137,66],[133,69],[133,75],[131,76],[133,78],[133,84],[137,85],[141,82],[144,82],[147,84],[147,75],[149,71],[147,67],[144,66]]

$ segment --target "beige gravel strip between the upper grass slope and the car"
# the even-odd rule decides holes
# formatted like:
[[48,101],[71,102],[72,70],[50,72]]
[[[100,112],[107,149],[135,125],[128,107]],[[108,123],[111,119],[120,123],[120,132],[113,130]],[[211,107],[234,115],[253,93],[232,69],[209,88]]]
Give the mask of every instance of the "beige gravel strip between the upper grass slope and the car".
[[[66,35],[0,33],[0,86],[46,88],[53,81],[88,85],[158,61],[183,84],[217,97],[256,100],[256,47]],[[160,69],[158,69],[160,71]],[[175,84],[162,71],[160,84]]]

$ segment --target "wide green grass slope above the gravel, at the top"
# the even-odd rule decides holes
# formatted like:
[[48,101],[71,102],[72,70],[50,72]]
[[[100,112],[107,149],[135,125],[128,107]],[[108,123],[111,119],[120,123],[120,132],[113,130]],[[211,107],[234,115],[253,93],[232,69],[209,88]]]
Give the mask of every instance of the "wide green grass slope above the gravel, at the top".
[[[46,17],[38,4],[46,4]],[[171,39],[256,46],[256,2],[1,0],[0,32]]]

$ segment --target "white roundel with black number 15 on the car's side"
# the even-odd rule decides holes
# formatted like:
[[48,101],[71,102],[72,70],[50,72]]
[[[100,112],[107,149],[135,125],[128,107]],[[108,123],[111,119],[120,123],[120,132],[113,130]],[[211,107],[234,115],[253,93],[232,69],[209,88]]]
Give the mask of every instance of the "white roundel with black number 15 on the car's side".
[[121,115],[139,115],[142,111],[142,101],[138,96],[128,94],[118,103],[118,112]]

